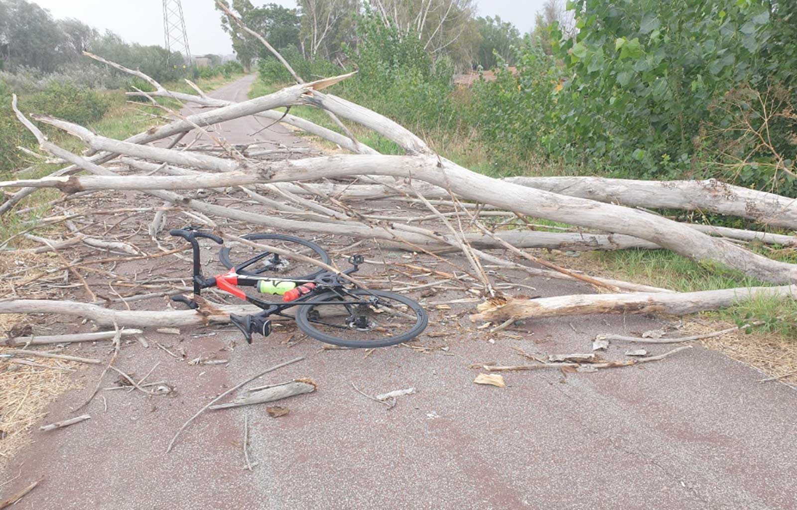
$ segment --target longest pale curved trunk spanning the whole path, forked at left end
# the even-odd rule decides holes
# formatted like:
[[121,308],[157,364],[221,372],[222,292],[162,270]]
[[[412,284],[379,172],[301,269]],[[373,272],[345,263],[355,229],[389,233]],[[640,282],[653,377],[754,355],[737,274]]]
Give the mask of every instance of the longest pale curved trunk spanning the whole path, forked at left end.
[[[342,113],[340,115],[346,116]],[[269,163],[267,168],[257,171],[241,171],[238,164],[229,159],[120,142],[94,135],[87,129],[61,120],[46,117],[38,119],[67,129],[73,135],[80,136],[91,147],[223,173],[202,176],[153,175],[147,179],[139,179],[138,176],[108,175],[110,171],[105,170],[108,172],[105,175],[45,177],[24,181],[26,184],[53,186],[68,192],[76,192],[92,189],[166,190],[192,189],[200,186],[242,186],[258,182],[285,182],[368,174],[414,177],[438,186],[448,186],[453,193],[462,197],[515,210],[521,214],[646,239],[695,261],[720,262],[760,280],[773,283],[797,281],[795,265],[772,261],[667,218],[623,206],[565,197],[502,182],[434,156],[336,155],[274,162]],[[387,120],[387,122],[392,121]],[[0,186],[18,185],[18,183],[19,181],[3,182]],[[165,196],[163,191],[153,194],[162,198]],[[172,199],[171,202],[175,200]]]

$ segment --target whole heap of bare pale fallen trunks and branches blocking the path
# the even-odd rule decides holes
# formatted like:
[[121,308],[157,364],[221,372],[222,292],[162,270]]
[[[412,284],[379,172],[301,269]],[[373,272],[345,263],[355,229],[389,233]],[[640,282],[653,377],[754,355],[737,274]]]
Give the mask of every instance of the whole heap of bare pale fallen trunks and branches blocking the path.
[[[228,13],[234,21],[233,14]],[[245,27],[243,27],[245,29]],[[260,38],[271,49],[268,42]],[[273,49],[271,49],[273,51]],[[278,58],[279,54],[273,52]],[[0,206],[6,214],[39,188],[56,188],[65,194],[98,190],[137,190],[163,201],[165,209],[190,211],[228,240],[247,243],[218,229],[215,220],[245,222],[261,230],[294,233],[340,234],[432,256],[463,253],[469,273],[486,300],[473,320],[506,321],[529,317],[583,313],[687,314],[735,304],[759,294],[793,296],[797,291],[797,265],[774,261],[745,247],[749,241],[797,245],[795,237],[673,221],[646,208],[701,210],[726,214],[783,229],[797,227],[797,202],[777,194],[748,190],[714,180],[633,181],[589,177],[517,177],[493,179],[469,171],[443,158],[421,138],[401,125],[334,96],[324,89],[352,73],[305,83],[293,73],[296,84],[266,96],[235,103],[197,94],[169,91],[147,75],[126,69],[102,57],[85,53],[124,73],[146,80],[155,92],[128,92],[157,105],[156,98],[172,98],[185,104],[212,108],[189,116],[169,112],[171,122],[125,140],[96,135],[83,126],[49,116],[33,120],[61,129],[82,140],[87,154],[78,155],[49,141],[16,105],[18,119],[37,137],[42,150],[69,163],[41,179],[0,182],[0,187],[20,188]],[[332,131],[276,108],[304,105],[320,108],[335,121]],[[163,107],[161,107],[163,108]],[[346,154],[302,159],[259,159],[269,151],[231,146],[215,139],[206,128],[214,124],[256,116],[265,122],[288,124],[326,139]],[[370,128],[398,144],[404,155],[383,155],[351,134],[343,120]],[[214,139],[218,147],[191,150],[178,144],[190,131]],[[161,142],[159,146],[153,145]],[[186,196],[189,190],[206,195],[233,188],[265,206],[269,214],[210,203]],[[267,195],[276,195],[269,198]],[[379,201],[421,204],[428,214],[417,217],[395,214],[363,214],[349,204]],[[442,212],[445,211],[445,212]],[[485,218],[512,221],[512,230]],[[561,222],[573,228],[536,230],[534,218]],[[434,229],[421,222],[434,220]],[[510,223],[509,221],[504,222]],[[155,213],[149,227],[153,237],[163,225],[163,210]],[[520,225],[524,228],[516,228]],[[548,227],[545,227],[548,228]],[[253,243],[249,242],[249,245]],[[559,250],[669,249],[693,261],[736,269],[760,281],[777,284],[760,288],[732,288],[707,292],[671,292],[607,278],[591,277],[544,261],[532,248]],[[494,250],[509,252],[501,256]],[[279,250],[276,250],[279,253]],[[289,253],[285,253],[290,256]],[[532,262],[520,264],[517,260]],[[514,260],[510,260],[514,259]],[[484,265],[516,269],[533,276],[585,281],[602,293],[528,299],[502,295]],[[540,267],[542,266],[542,267]],[[330,269],[330,268],[328,268]],[[184,326],[225,321],[230,308],[210,304],[198,311],[113,310],[99,304],[57,300],[4,300],[0,313],[61,313],[84,316],[99,324],[128,327]],[[236,312],[241,312],[236,309]]]

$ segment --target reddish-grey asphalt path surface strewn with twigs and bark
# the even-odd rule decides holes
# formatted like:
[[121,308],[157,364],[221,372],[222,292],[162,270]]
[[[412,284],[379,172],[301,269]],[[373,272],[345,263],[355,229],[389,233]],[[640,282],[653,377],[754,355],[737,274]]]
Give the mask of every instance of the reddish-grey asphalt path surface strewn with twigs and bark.
[[[242,99],[250,79],[213,96]],[[235,124],[219,131],[233,142],[253,128]],[[578,283],[517,278],[543,296],[591,292]],[[699,346],[638,367],[508,372],[504,388],[479,386],[473,379],[480,371],[469,366],[524,363],[511,347],[587,352],[597,334],[638,333],[667,321],[536,320],[509,329],[510,337],[477,330],[467,317],[472,307],[430,308],[427,332],[436,334],[420,337],[426,353],[404,346],[370,355],[323,351],[312,339],[286,343],[292,335],[280,330],[251,346],[230,328],[147,335],[152,347],[125,345],[116,365],[143,375],[160,362],[149,380],[169,382],[176,394],[104,391],[80,411],[92,415],[88,422],[34,431],[33,445],[0,478],[22,473],[0,489],[0,500],[43,475],[14,508],[797,508],[797,394],[789,386],[757,383],[759,372]],[[215,355],[230,363],[191,366],[155,342],[186,351],[186,359]],[[628,348],[636,346],[613,344],[604,355],[624,359]],[[75,351],[107,356],[108,344]],[[253,383],[314,379],[316,392],[277,402],[288,415],[270,418],[265,406],[209,411],[165,453],[211,398],[299,355],[304,361]],[[88,396],[100,370],[81,371],[86,389],[50,406],[45,422],[73,416],[70,408]],[[106,376],[104,386],[114,379]],[[388,410],[351,383],[366,394],[409,386],[417,393]],[[251,472],[243,469],[245,419],[257,463]]]

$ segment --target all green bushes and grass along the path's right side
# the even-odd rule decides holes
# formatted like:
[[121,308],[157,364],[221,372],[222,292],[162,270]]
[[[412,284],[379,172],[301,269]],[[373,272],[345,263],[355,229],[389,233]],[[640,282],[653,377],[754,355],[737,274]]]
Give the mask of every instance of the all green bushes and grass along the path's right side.
[[[296,14],[296,39],[281,53],[305,80],[356,69],[336,95],[397,120],[446,158],[487,175],[714,177],[797,197],[797,10],[784,2],[726,3],[650,0],[620,8],[579,1],[565,11],[552,1],[523,37],[500,19],[472,17],[479,37],[469,53],[430,53],[424,33],[406,37],[400,24],[366,10],[345,26],[351,35],[336,33],[337,45],[312,56],[299,49],[307,30]],[[470,59],[457,60],[463,53]],[[275,58],[260,57],[261,79],[250,96],[291,83]],[[472,86],[455,84],[471,69],[480,74]],[[336,129],[313,108],[290,112]],[[400,152],[351,128],[381,152]],[[762,228],[709,214],[689,220]],[[797,261],[793,248],[752,248]],[[579,259],[575,265],[592,272],[678,291],[763,284],[666,250]],[[797,332],[794,302],[757,300],[713,316]]]

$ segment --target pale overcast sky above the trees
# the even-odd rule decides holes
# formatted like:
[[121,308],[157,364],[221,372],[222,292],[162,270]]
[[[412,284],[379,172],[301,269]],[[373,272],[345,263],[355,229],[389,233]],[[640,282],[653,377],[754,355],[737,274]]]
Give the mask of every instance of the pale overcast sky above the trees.
[[[56,18],[77,18],[96,29],[111,29],[125,41],[144,45],[163,45],[162,0],[33,0],[49,9]],[[271,0],[295,7],[294,0]],[[534,25],[534,14],[543,0],[492,0],[480,2],[480,16],[499,15],[527,32]],[[255,5],[269,2],[252,0]],[[191,53],[233,53],[230,37],[222,31],[213,0],[183,0],[188,44]]]

